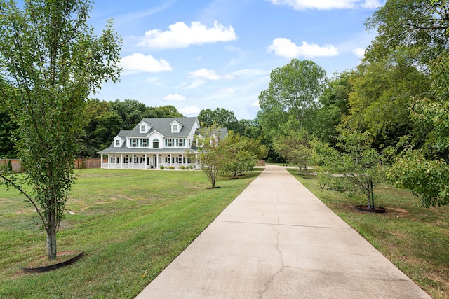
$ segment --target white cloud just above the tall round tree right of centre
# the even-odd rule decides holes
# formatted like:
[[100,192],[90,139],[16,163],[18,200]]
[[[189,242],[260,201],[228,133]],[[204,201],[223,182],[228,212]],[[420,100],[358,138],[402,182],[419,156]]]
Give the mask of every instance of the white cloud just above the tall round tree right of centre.
[[306,41],[302,41],[301,46],[297,46],[290,39],[278,37],[274,39],[272,44],[268,47],[269,52],[274,52],[278,56],[295,58],[295,57],[323,57],[338,55],[338,50],[332,45],[319,46],[316,43],[309,45]]

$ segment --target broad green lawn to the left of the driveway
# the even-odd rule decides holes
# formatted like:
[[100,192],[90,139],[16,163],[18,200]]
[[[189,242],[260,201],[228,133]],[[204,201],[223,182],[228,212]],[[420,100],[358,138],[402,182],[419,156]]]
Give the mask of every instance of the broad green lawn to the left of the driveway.
[[0,186],[0,298],[133,298],[260,174],[82,169],[58,232],[58,251],[83,250],[59,270],[23,274],[46,256],[36,212]]

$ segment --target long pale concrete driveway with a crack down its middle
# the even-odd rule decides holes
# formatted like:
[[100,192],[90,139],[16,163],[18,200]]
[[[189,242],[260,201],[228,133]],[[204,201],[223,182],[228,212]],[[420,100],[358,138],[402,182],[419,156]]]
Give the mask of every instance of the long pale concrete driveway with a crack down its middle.
[[430,298],[284,167],[253,183],[136,298]]

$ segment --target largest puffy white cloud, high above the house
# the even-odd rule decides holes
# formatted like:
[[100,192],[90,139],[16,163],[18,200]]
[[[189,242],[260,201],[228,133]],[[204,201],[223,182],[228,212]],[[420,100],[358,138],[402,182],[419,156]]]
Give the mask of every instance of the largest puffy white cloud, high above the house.
[[192,22],[188,27],[185,22],[177,22],[168,26],[168,31],[152,29],[145,32],[145,36],[138,46],[151,48],[187,48],[190,45],[215,43],[217,41],[235,41],[237,39],[234,28],[228,28],[215,21],[213,27],[207,28],[201,22]]

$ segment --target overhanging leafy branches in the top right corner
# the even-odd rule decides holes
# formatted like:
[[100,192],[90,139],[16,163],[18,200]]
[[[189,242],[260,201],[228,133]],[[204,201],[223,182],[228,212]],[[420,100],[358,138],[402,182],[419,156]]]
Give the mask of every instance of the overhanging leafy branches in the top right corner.
[[406,50],[410,60],[429,64],[448,47],[448,13],[448,0],[387,0],[366,22],[377,30],[366,58],[373,62]]

